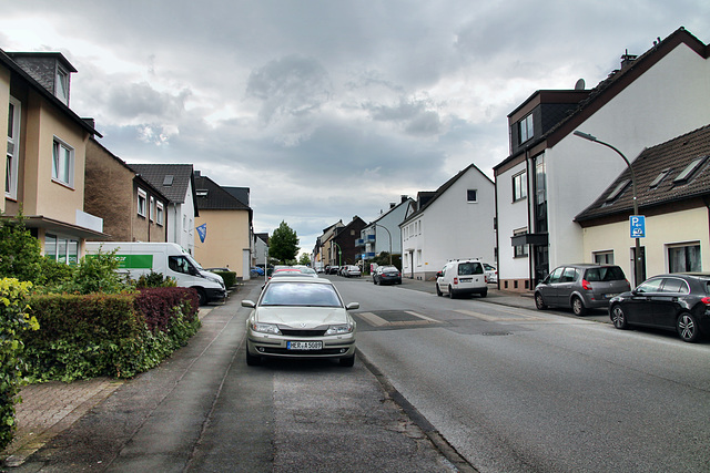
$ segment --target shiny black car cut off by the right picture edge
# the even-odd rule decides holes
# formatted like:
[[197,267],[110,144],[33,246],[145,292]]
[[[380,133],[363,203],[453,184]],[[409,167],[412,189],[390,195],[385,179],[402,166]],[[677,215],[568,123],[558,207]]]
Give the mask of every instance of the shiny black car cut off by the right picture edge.
[[618,329],[629,326],[676,330],[683,341],[710,333],[710,274],[669,274],[647,279],[609,301]]

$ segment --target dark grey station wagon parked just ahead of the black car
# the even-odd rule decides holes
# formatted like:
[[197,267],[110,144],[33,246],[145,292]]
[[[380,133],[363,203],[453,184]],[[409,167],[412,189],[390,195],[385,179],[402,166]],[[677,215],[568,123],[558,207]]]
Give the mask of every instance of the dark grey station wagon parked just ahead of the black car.
[[571,308],[576,316],[606,308],[609,300],[631,289],[623,270],[615,265],[564,265],[535,287],[535,306]]

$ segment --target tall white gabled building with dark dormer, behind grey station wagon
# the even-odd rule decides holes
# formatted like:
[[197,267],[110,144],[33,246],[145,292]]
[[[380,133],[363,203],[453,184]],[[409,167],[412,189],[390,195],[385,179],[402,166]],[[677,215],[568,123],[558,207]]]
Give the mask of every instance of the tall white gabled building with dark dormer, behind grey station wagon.
[[620,69],[594,89],[579,81],[575,90],[537,91],[508,115],[510,155],[494,168],[501,289],[530,290],[552,267],[589,261],[575,217],[626,164],[572,132],[633,160],[710,123],[708,56],[708,47],[681,28],[641,56],[625,53]]

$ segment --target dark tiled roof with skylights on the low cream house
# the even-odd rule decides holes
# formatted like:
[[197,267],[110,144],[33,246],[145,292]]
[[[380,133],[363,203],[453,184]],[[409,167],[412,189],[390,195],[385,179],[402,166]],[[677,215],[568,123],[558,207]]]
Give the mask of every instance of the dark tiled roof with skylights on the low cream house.
[[[698,167],[687,176],[679,175],[700,158]],[[639,212],[662,204],[689,200],[710,195],[710,125],[678,136],[666,143],[643,150],[631,163],[636,174],[636,191]],[[667,172],[665,175],[661,173]],[[657,178],[660,177],[660,181]],[[625,169],[611,185],[575,218],[576,222],[592,220],[611,215],[630,215],[633,210],[631,173]],[[623,186],[623,183],[627,183]],[[622,185],[619,194],[609,196]]]

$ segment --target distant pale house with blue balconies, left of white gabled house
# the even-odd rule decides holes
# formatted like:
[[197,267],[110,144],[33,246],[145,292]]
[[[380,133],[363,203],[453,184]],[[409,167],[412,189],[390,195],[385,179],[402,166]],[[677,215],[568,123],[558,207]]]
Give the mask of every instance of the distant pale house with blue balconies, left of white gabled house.
[[361,251],[361,259],[367,260],[386,251],[395,259],[402,260],[402,234],[399,224],[404,220],[407,208],[414,200],[403,195],[400,202],[390,203],[387,212],[381,212],[381,215],[373,222],[367,224],[361,232],[361,237],[356,245]]

